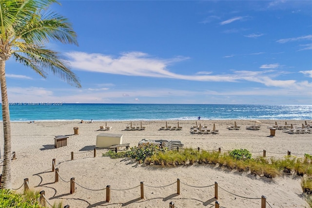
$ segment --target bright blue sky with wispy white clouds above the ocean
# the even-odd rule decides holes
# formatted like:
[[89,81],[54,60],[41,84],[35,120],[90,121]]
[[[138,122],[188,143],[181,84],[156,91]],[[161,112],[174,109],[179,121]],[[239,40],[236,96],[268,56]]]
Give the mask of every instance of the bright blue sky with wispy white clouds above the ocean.
[[12,59],[10,102],[312,104],[312,1],[59,2],[82,88]]

